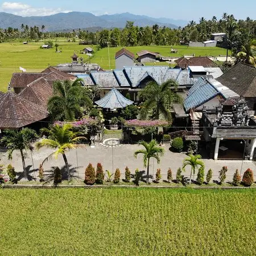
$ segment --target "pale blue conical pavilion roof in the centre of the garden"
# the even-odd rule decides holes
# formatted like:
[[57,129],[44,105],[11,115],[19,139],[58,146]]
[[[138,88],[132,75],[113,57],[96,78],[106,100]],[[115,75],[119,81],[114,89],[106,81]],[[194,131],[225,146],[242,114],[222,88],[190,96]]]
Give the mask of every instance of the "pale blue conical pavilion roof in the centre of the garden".
[[125,108],[134,102],[128,100],[126,97],[122,96],[122,94],[119,93],[117,89],[113,88],[108,94],[106,94],[104,98],[96,101],[95,103],[104,109],[117,109]]

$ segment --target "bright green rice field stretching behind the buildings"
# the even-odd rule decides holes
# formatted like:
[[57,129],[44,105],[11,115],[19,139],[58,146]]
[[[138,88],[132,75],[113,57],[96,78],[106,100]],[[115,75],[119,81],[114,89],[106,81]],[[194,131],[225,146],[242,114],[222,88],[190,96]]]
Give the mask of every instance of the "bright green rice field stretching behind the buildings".
[[[64,39],[58,39],[59,49],[62,52],[56,53],[55,48],[40,49],[43,42],[38,43],[2,43],[0,44],[0,90],[6,92],[8,82],[14,72],[20,72],[19,67],[23,67],[27,72],[41,72],[47,68],[48,65],[57,65],[60,63],[68,63],[71,61],[73,52],[76,51],[79,56],[88,59],[86,55],[80,55],[80,50],[86,46],[80,46],[78,42],[65,42]],[[55,43],[54,43],[55,44]],[[96,46],[93,46],[97,50]],[[115,52],[119,51],[122,47],[109,48],[110,67],[115,68]],[[170,53],[170,46],[137,46],[126,47],[133,53],[137,53],[142,49],[148,51],[159,52],[163,56],[176,56],[183,55],[195,56],[218,56],[225,55],[226,50],[218,47],[186,47],[186,46],[173,46],[178,49],[177,53]],[[98,63],[102,68],[109,69],[108,48],[96,51],[95,55],[90,59],[92,63]],[[167,63],[156,63],[149,65],[168,65]]]

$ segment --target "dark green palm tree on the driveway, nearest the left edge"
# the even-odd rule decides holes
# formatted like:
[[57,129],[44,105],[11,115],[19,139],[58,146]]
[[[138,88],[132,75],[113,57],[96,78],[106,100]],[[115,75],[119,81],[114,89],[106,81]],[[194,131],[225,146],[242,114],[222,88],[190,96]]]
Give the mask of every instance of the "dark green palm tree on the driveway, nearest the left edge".
[[27,180],[27,170],[24,158],[24,150],[31,150],[31,142],[38,138],[35,130],[24,128],[22,130],[6,130],[1,142],[8,148],[8,158],[13,158],[13,151],[19,150],[22,158],[23,176]]

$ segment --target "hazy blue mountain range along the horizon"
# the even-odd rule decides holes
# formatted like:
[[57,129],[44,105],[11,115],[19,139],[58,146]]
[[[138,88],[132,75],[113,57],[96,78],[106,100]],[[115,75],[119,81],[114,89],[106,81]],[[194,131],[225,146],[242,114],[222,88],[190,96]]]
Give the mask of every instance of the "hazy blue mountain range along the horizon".
[[145,27],[158,24],[163,27],[177,28],[183,27],[188,22],[186,20],[175,20],[167,18],[152,18],[144,15],[134,15],[130,13],[101,15],[96,16],[91,13],[58,13],[50,16],[30,16],[22,17],[9,13],[0,13],[0,28],[14,27],[20,28],[20,25],[27,24],[28,26],[44,25],[46,31],[63,31],[73,30],[77,28],[113,28],[125,27],[126,21],[134,21],[135,26]]

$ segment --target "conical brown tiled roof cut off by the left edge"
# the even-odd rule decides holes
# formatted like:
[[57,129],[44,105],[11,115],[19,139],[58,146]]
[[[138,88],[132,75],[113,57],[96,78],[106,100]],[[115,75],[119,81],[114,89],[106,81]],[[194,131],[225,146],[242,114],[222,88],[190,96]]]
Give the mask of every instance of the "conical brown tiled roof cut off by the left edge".
[[0,101],[0,129],[18,129],[48,117],[48,111],[11,91]]

